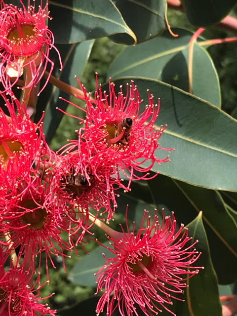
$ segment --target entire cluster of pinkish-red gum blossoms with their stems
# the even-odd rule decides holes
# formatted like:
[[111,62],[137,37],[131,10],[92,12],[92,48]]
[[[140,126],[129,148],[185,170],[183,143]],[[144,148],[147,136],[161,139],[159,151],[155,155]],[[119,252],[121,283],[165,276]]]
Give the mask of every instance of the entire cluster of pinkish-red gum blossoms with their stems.
[[[113,258],[98,272],[98,291],[105,292],[96,312],[105,306],[109,316],[117,307],[122,316],[137,315],[136,306],[145,315],[161,308],[170,311],[166,305],[175,298],[173,293],[182,292],[185,279],[198,272],[192,266],[200,255],[194,249],[197,241],[190,245],[187,229],[176,227],[173,215],[163,215],[159,223],[157,214],[151,221],[145,211],[137,233],[134,227],[129,231],[128,223],[127,232],[120,233],[107,225],[117,208],[117,190],[130,191],[132,181],[151,179],[154,163],[169,161],[169,155],[156,157],[157,149],[168,150],[158,143],[166,126],[155,127],[160,102],[155,104],[147,90],[144,106],[133,81],[125,94],[122,87],[117,93],[109,81],[107,94],[97,75],[93,99],[78,80],[85,109],[75,107],[85,118],[78,118],[77,139],[54,153],[41,120],[34,123],[29,112],[47,63],[49,77],[53,66],[47,3],[36,12],[30,0],[28,7],[19,2],[20,8],[1,0],[0,10],[0,314],[55,315],[39,302],[44,285],[40,268],[45,265],[49,282],[48,264],[54,267],[53,257],[60,255],[66,270],[68,252],[77,252],[88,234],[93,235],[94,225],[113,246]],[[12,87],[22,75],[27,92],[20,102]]]

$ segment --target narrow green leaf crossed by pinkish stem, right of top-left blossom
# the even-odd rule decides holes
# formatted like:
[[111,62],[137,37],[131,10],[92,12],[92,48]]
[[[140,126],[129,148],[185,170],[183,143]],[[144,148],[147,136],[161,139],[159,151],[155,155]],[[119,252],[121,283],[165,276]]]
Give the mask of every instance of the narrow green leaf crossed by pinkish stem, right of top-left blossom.
[[[83,74],[85,63],[87,62],[94,40],[85,41],[77,44],[58,45],[61,53],[63,53],[64,69],[61,73],[56,73],[55,76],[66,83],[73,86],[77,85],[77,80],[74,78],[77,75],[80,78]],[[48,85],[47,89],[40,94],[38,103],[46,106],[44,118],[44,133],[47,142],[50,142],[54,136],[58,125],[63,118],[63,113],[56,107],[66,110],[68,103],[59,99],[59,97],[70,99],[70,96],[62,92],[55,86]],[[48,100],[45,104],[44,100]]]

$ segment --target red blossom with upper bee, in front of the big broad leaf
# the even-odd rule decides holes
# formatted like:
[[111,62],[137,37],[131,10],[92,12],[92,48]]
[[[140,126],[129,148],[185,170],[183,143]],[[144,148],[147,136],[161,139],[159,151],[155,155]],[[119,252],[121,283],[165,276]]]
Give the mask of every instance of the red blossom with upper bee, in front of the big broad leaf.
[[[122,87],[117,95],[115,84],[109,81],[110,91],[107,95],[106,91],[102,92],[101,86],[98,89],[96,76],[95,101],[87,95],[82,84],[80,87],[86,102],[86,118],[82,120],[85,127],[81,128],[82,138],[93,144],[97,152],[103,154],[104,160],[117,165],[118,171],[121,170],[130,182],[148,179],[147,172],[155,162],[168,161],[169,156],[164,159],[155,156],[155,151],[161,149],[158,139],[166,126],[157,129],[154,126],[159,112],[159,100],[158,104],[154,104],[154,96],[149,90],[148,105],[141,111],[143,100],[139,99],[139,92],[133,80],[130,87],[127,84],[125,96]],[[148,161],[148,166],[141,166],[145,161]],[[145,175],[135,175],[134,171]]]

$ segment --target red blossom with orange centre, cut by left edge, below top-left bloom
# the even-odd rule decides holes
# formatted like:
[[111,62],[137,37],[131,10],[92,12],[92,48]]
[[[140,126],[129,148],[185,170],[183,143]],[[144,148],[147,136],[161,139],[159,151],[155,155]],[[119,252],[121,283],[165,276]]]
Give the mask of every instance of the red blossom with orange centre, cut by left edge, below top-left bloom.
[[19,183],[30,186],[28,178],[38,173],[40,161],[51,157],[40,123],[33,123],[18,100],[5,102],[9,116],[0,109],[0,215],[14,197],[20,198]]

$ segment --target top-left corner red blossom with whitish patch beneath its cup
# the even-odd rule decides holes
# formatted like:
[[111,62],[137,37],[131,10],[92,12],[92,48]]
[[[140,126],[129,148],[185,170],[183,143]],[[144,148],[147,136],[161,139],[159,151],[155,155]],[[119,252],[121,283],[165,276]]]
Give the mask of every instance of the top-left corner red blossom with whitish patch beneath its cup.
[[[26,7],[22,0],[19,4],[22,7],[5,4],[1,0],[0,10],[0,78],[4,87],[2,92],[10,93],[12,86],[28,69],[30,76],[27,76],[24,88],[37,84],[46,70],[47,63],[51,64],[49,76],[52,73],[53,61],[49,59],[49,51],[54,48],[53,34],[47,27],[48,4],[39,6],[36,12],[35,1],[28,0]],[[48,79],[49,79],[48,76]],[[10,78],[14,78],[11,82]],[[46,86],[47,81],[42,89]],[[42,91],[40,90],[40,92]]]

